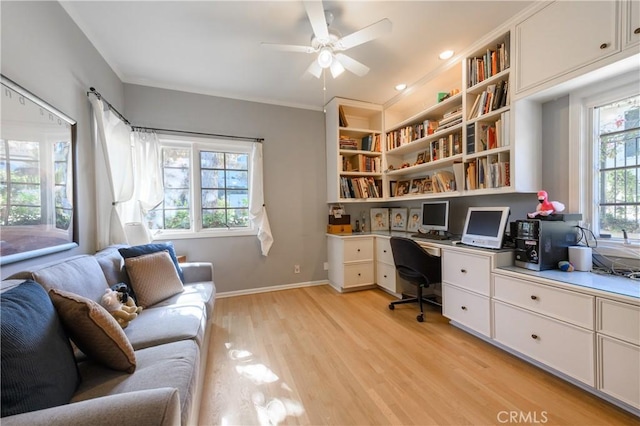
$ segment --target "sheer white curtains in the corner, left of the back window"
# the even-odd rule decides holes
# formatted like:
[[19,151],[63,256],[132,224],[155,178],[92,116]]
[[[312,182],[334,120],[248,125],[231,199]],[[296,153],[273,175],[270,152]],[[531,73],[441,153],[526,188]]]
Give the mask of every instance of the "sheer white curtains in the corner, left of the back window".
[[155,133],[132,134],[129,125],[91,99],[96,121],[98,249],[149,242],[144,215],[162,201],[162,169]]

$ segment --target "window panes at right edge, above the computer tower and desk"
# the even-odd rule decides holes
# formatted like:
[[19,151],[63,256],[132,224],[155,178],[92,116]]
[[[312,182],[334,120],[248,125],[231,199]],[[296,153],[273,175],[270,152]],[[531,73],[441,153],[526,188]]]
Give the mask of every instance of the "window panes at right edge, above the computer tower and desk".
[[640,238],[640,96],[593,108],[597,231]]

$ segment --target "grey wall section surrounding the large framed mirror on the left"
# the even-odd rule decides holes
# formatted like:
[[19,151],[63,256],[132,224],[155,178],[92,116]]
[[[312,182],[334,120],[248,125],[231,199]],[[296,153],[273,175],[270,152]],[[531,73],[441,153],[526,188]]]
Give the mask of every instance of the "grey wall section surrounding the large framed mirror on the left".
[[0,2],[1,72],[78,122],[77,249],[2,267],[5,278],[34,263],[95,251],[95,193],[91,107],[95,86],[122,107],[123,85],[57,2]]

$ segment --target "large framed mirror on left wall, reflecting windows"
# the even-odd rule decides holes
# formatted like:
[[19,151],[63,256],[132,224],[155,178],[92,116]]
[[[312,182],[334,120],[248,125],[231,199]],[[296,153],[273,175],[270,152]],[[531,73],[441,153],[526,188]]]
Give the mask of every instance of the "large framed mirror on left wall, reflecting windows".
[[[0,265],[78,247],[74,119],[4,75],[0,162],[8,166]],[[3,166],[3,167],[5,167]]]

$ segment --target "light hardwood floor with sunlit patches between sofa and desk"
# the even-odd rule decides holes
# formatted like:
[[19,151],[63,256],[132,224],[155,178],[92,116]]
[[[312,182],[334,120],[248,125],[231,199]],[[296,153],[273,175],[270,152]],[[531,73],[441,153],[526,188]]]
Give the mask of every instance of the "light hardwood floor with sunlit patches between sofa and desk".
[[[202,425],[638,425],[451,325],[328,285],[216,300]],[[513,417],[512,417],[513,416]]]

